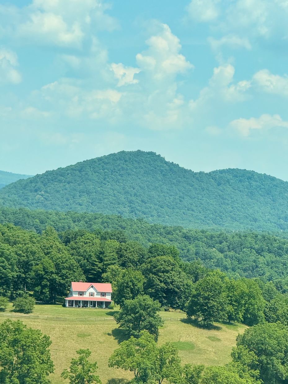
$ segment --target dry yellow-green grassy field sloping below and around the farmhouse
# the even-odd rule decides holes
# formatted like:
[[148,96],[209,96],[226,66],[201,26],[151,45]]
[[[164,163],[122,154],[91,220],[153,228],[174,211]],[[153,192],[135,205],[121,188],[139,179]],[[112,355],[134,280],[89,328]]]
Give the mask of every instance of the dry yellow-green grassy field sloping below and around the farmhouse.
[[[4,321],[12,307],[1,313],[0,321]],[[115,310],[90,308],[64,308],[54,305],[36,305],[33,315],[48,317],[86,318],[87,321],[61,321],[43,318],[20,318],[28,327],[38,328],[50,336],[51,357],[55,364],[55,373],[51,374],[53,384],[66,381],[60,377],[65,368],[69,368],[71,358],[76,357],[76,349],[89,348],[92,351],[91,361],[98,362],[98,374],[103,384],[124,384],[132,378],[131,372],[108,367],[108,359],[114,349],[122,341],[121,330],[114,321],[91,321],[93,318],[111,318]],[[4,316],[3,316],[4,315]],[[230,360],[230,352],[238,333],[243,333],[245,326],[215,324],[210,329],[197,328],[183,313],[161,312],[166,319],[160,329],[158,343],[171,341],[179,348],[182,363],[223,365]],[[170,320],[171,317],[171,320]],[[9,317],[10,318],[10,317]],[[17,320],[17,318],[12,318]],[[103,319],[104,320],[104,319]]]

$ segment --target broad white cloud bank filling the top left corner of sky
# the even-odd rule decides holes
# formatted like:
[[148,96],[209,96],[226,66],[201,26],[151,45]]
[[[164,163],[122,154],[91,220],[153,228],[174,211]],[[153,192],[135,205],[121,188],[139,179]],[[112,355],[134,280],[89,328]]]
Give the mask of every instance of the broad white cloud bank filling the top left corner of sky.
[[33,0],[22,8],[2,6],[2,33],[22,41],[80,48],[97,30],[112,31],[118,22],[101,0]]

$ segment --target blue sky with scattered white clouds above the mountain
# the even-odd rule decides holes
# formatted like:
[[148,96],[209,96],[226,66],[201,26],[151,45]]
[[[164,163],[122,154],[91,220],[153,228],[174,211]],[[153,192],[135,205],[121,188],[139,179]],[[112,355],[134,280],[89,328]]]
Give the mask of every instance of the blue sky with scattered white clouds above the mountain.
[[0,1],[0,169],[118,151],[288,180],[287,0]]

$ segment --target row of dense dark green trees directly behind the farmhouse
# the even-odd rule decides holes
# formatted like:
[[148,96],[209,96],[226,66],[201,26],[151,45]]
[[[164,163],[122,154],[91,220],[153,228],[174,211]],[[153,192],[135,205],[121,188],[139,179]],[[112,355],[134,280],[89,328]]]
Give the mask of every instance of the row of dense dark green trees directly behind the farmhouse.
[[56,303],[71,281],[110,282],[113,300],[138,296],[157,300],[162,310],[180,309],[199,324],[239,321],[247,325],[288,324],[285,281],[229,278],[199,260],[184,262],[172,245],[128,241],[123,232],[86,230],[41,235],[0,225],[0,295],[15,299],[30,292]]

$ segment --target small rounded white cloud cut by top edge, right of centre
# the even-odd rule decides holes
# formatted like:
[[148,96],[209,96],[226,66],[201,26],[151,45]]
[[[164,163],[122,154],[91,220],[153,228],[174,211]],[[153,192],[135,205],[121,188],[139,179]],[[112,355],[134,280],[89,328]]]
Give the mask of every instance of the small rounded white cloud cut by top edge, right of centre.
[[210,22],[219,15],[219,0],[192,0],[187,7],[190,16],[198,22]]

